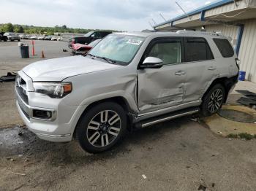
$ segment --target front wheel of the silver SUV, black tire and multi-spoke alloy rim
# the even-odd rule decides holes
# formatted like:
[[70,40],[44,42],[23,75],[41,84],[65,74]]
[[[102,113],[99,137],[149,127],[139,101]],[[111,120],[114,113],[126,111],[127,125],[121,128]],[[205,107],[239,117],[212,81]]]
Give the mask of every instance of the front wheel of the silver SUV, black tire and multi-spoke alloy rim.
[[123,139],[127,132],[127,115],[114,102],[98,104],[82,115],[76,132],[86,152],[104,152]]

